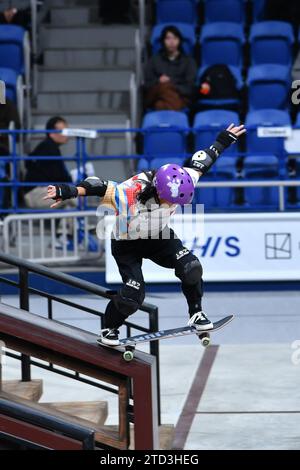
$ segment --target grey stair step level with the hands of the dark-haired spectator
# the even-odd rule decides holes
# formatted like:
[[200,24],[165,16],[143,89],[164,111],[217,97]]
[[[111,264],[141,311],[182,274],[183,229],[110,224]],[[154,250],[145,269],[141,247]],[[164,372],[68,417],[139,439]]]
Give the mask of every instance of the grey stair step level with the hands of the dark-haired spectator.
[[39,91],[128,91],[130,71],[40,72]]

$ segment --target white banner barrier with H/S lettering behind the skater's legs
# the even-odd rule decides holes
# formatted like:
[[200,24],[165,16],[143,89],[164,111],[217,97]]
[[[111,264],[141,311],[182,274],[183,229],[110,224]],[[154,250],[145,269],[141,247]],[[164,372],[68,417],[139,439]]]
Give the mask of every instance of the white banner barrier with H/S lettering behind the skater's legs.
[[[182,224],[182,216],[175,215],[171,226],[199,257],[205,281],[300,279],[300,213],[206,214],[196,230],[192,217],[184,215]],[[107,230],[113,220],[105,219]],[[146,282],[178,282],[172,270],[150,260],[143,262],[143,273]],[[121,282],[108,238],[106,281]]]

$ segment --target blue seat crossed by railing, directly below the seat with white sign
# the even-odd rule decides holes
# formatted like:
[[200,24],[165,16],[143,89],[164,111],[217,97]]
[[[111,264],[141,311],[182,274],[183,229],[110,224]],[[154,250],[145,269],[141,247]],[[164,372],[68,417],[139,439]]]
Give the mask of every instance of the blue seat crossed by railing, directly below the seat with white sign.
[[[251,156],[244,159],[244,177],[249,180],[277,180],[279,161],[275,156]],[[279,205],[278,189],[274,187],[245,187],[245,200],[252,209],[275,209]]]

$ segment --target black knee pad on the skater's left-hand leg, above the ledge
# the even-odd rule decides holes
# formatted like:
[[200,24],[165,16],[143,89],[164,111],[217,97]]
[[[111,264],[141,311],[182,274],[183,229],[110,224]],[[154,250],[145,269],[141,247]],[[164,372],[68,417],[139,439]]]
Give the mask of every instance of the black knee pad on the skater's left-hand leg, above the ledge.
[[140,282],[130,279],[121,287],[113,301],[118,311],[127,318],[140,308],[144,298],[144,286]]

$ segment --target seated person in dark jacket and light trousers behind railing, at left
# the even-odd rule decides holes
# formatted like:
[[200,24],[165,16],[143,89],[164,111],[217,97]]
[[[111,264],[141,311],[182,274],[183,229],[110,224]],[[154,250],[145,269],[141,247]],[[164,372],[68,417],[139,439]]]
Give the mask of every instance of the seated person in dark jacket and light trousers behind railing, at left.
[[[48,120],[46,130],[63,130],[67,127],[64,118],[56,116]],[[44,157],[43,160],[28,160],[25,162],[26,174],[25,182],[33,183],[32,186],[24,188],[24,201],[30,209],[49,209],[51,201],[44,200],[47,195],[47,186],[38,183],[72,183],[72,178],[68,172],[63,159],[48,160],[47,157],[61,157],[60,146],[66,144],[68,137],[61,133],[48,132],[47,137],[40,142],[31,152],[30,156]],[[37,184],[34,184],[37,183]],[[60,209],[74,209],[77,206],[75,199],[63,201]],[[71,229],[67,226],[68,235]],[[63,242],[62,226],[57,229],[58,244]]]

